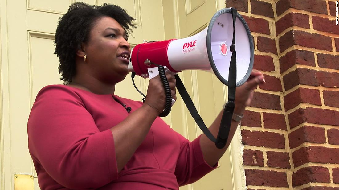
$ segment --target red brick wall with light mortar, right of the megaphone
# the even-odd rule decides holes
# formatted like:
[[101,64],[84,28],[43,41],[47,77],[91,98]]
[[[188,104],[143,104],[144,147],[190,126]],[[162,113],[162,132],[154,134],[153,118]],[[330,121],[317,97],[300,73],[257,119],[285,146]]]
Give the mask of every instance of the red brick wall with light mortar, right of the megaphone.
[[248,23],[254,69],[267,82],[241,121],[248,189],[339,190],[335,6],[334,0],[226,0]]

